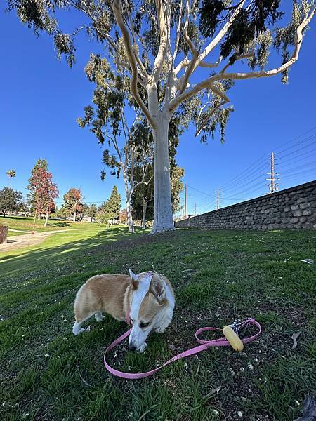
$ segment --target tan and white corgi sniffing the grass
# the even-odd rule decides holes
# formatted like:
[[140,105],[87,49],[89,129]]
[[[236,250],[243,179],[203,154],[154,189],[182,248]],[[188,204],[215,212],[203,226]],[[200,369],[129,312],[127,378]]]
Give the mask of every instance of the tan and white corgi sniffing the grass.
[[93,315],[102,321],[105,312],[119,321],[130,321],[129,348],[143,352],[147,336],[153,330],[163,333],[171,323],[174,304],[171,283],[157,272],[134,274],[129,269],[129,275],[92,276],[76,295],[72,333],[84,332],[81,324]]

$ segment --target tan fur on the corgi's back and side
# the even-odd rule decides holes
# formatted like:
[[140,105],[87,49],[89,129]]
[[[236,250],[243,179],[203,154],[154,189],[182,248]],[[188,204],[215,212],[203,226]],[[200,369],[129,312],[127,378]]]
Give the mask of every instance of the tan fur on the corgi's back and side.
[[74,317],[79,323],[96,312],[106,312],[114,319],[124,320],[124,295],[131,285],[128,275],[103,274],[92,276],[79,289],[74,302]]

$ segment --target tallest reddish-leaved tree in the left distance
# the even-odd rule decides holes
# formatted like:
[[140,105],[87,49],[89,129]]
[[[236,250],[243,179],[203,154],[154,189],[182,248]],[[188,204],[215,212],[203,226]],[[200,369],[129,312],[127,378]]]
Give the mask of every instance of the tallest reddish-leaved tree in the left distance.
[[27,188],[32,194],[35,218],[36,214],[46,215],[44,223],[46,227],[48,216],[55,210],[55,199],[59,196],[57,185],[53,182],[53,175],[48,172],[46,161],[35,164]]

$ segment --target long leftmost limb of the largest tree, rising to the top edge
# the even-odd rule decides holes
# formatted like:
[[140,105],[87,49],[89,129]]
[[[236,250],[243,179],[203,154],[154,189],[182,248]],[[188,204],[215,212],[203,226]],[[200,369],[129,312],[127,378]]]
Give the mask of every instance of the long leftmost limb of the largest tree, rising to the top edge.
[[123,18],[121,15],[121,1],[120,0],[114,0],[112,4],[112,8],[114,11],[115,19],[117,20],[117,25],[119,25],[119,29],[121,29],[121,33],[123,35],[123,41],[124,46],[126,48],[126,55],[129,59],[129,64],[131,65],[131,92],[133,93],[133,96],[140,106],[140,108],[143,110],[143,113],[145,114],[148,122],[152,126],[152,128],[156,128],[157,124],[156,121],[152,118],[152,114],[150,114],[149,109],[147,109],[145,102],[143,102],[142,98],[140,98],[139,92],[138,92],[138,67],[136,63],[135,54],[133,52],[133,48],[131,46],[131,39],[129,37],[129,31],[126,29],[126,26],[124,25]]

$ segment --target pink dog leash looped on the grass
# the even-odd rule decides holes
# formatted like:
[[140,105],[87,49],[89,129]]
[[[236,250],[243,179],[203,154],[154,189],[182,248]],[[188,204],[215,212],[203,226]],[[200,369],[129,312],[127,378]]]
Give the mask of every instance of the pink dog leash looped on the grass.
[[[260,324],[258,323],[258,321],[256,321],[255,319],[252,319],[252,318],[247,319],[243,323],[239,324],[239,328],[242,328],[243,326],[248,326],[249,324],[253,324],[253,325],[257,326],[258,332],[254,336],[250,336],[249,338],[242,339],[242,342],[244,344],[247,344],[247,343],[255,340],[256,338],[258,338],[258,336],[261,333]],[[162,366],[160,366],[158,368],[154,368],[154,370],[146,371],[145,373],[124,373],[124,371],[119,371],[119,370],[116,370],[115,368],[112,368],[107,363],[107,360],[105,359],[105,356],[111,351],[111,349],[113,349],[114,347],[119,345],[119,343],[121,343],[125,338],[127,338],[129,336],[129,334],[131,333],[131,329],[129,329],[129,330],[127,330],[126,333],[124,333],[124,335],[121,335],[119,338],[117,338],[117,340],[114,340],[114,342],[112,342],[112,344],[109,347],[107,347],[107,349],[105,350],[105,354],[104,354],[105,368],[107,368],[107,370],[110,371],[111,374],[117,375],[117,377],[122,377],[124,379],[129,379],[129,380],[143,379],[143,377],[148,377],[150,375],[153,375],[154,373],[157,373],[158,370],[160,370],[164,366],[168,366],[168,364],[172,363],[173,361],[177,361],[178,359],[185,358],[186,356],[198,354],[199,352],[204,351],[204,349],[207,349],[207,348],[210,348],[210,347],[230,347],[230,343],[228,342],[228,340],[225,337],[215,339],[215,340],[199,339],[199,335],[202,332],[206,332],[206,331],[209,331],[209,330],[223,330],[223,329],[200,328],[195,332],[195,338],[196,338],[197,342],[199,342],[199,344],[202,344],[202,345],[198,345],[197,347],[188,349],[185,352],[181,352],[180,354],[178,354],[176,356],[173,356],[171,359],[166,361],[166,363],[164,363]]]

